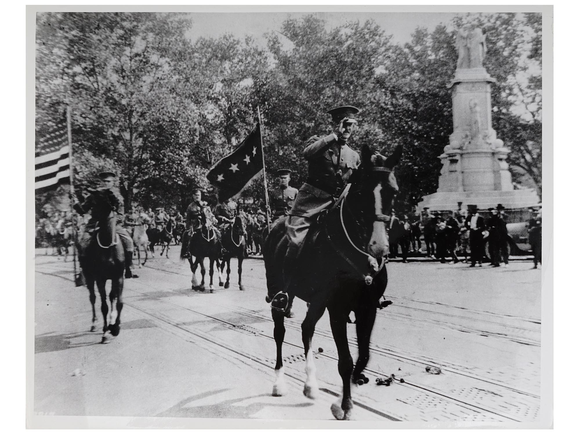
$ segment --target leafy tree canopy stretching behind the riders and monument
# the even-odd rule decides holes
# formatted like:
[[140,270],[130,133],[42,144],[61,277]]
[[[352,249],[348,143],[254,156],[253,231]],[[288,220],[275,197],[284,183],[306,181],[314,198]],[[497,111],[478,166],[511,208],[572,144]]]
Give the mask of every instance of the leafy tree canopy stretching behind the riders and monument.
[[[191,41],[187,14],[39,13],[37,129],[73,107],[74,180],[90,187],[119,173],[126,208],[183,209],[194,186],[211,191],[209,168],[251,131],[262,112],[269,182],[276,169],[306,177],[308,137],[329,132],[332,107],[361,108],[352,146],[388,153],[403,144],[398,206],[437,189],[438,155],[452,132],[454,39],[466,23],[487,38],[492,125],[512,150],[514,180],[541,193],[542,28],[538,13],[468,14],[394,44],[374,21],[327,28],[289,18],[253,39],[225,34]],[[260,200],[259,180],[244,192]]]

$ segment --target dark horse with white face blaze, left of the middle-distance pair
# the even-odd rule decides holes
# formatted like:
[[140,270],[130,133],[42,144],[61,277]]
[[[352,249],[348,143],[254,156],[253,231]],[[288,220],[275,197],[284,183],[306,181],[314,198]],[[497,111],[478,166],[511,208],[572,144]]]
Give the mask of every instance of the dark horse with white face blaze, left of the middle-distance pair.
[[[205,291],[205,266],[204,259],[209,258],[209,291],[213,293],[213,263],[216,263],[216,270],[219,275],[219,285],[222,287],[222,273],[219,270],[219,256],[222,251],[222,244],[220,243],[219,231],[211,226],[211,219],[209,216],[209,209],[205,208],[200,216],[200,227],[194,230],[189,240],[190,256],[189,266],[191,269],[191,289]],[[193,260],[195,257],[195,261]],[[182,260],[184,258],[182,257]],[[201,269],[201,284],[198,284],[195,278],[195,271],[198,264]]]

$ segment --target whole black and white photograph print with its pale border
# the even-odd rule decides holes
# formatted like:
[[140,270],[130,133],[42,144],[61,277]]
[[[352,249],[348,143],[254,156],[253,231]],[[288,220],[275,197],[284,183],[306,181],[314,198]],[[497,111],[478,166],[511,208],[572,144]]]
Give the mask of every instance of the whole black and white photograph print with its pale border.
[[27,427],[552,426],[553,6],[403,9],[27,6]]

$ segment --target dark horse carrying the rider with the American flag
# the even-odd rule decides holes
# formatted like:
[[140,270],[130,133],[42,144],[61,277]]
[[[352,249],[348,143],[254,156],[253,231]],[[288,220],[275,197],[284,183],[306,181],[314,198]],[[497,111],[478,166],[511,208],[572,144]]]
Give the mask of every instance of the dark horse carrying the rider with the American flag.
[[[110,335],[117,336],[121,330],[121,310],[123,309],[123,272],[125,270],[125,253],[121,236],[117,235],[117,218],[111,209],[106,195],[93,193],[96,205],[93,206],[93,218],[97,222],[95,233],[85,254],[79,257],[82,273],[85,276],[86,287],[89,289],[90,304],[93,308],[93,324],[95,331],[95,282],[101,296],[101,313],[103,313],[102,343],[108,343]],[[107,292],[105,284],[111,280],[111,313],[108,313]],[[107,314],[109,317],[107,319]],[[109,335],[110,334],[110,335]]]

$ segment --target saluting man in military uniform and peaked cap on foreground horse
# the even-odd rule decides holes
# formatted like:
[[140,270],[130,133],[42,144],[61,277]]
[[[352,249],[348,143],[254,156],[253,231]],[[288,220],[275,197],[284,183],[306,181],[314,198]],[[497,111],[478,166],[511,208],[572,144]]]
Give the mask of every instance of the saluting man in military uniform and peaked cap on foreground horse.
[[353,171],[360,165],[360,156],[347,145],[358,124],[355,118],[358,112],[358,108],[353,106],[329,110],[327,113],[332,117],[333,132],[310,137],[303,151],[308,162],[308,175],[306,183],[296,195],[286,224],[289,244],[282,268],[284,292],[278,293],[272,300],[272,307],[285,311],[287,315],[288,295],[285,292],[291,285],[291,277],[296,273],[296,260],[308,230],[318,213],[335,202]]

